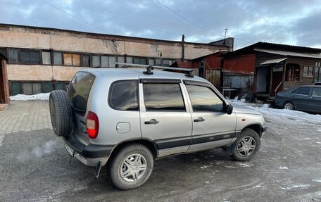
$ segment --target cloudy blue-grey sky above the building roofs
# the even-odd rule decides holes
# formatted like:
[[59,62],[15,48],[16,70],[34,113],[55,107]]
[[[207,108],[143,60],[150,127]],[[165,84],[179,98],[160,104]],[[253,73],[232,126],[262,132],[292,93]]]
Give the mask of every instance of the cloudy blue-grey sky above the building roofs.
[[321,0],[0,0],[0,23],[208,43],[321,48]]

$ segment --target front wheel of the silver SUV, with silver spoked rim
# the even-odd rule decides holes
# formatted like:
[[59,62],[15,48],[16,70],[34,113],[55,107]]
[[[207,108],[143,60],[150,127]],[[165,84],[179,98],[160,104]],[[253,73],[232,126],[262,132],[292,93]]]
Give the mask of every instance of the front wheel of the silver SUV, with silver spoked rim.
[[[244,148],[245,147],[245,148]],[[244,129],[232,145],[232,158],[245,161],[256,156],[260,149],[260,137],[251,128]],[[243,149],[242,149],[243,148]]]

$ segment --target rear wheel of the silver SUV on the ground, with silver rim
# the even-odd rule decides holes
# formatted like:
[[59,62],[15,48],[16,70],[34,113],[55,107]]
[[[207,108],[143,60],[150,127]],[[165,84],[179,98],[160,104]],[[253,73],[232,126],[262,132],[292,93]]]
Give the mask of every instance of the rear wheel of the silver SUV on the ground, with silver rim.
[[134,189],[144,184],[151,176],[153,154],[142,144],[130,144],[117,153],[110,168],[111,180],[115,187],[122,190]]

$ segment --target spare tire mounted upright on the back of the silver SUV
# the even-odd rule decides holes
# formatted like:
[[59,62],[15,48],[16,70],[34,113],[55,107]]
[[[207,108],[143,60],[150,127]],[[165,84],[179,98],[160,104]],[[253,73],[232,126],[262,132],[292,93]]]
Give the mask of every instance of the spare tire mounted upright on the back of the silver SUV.
[[71,102],[63,90],[51,91],[49,96],[50,118],[53,132],[66,137],[73,129]]

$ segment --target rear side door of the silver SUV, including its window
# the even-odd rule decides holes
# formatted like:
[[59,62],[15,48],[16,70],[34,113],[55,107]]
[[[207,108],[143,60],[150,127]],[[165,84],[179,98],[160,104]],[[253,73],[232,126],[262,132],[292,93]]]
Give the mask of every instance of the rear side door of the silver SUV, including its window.
[[140,80],[141,133],[159,149],[158,156],[184,153],[191,144],[191,114],[181,80]]

